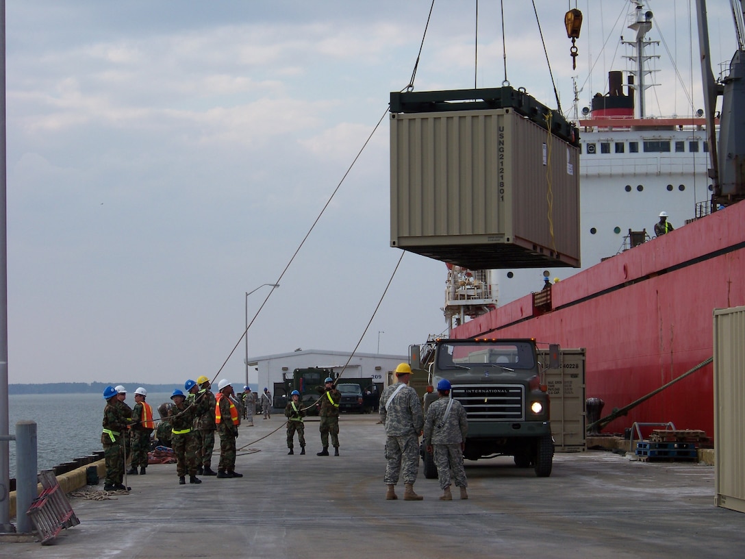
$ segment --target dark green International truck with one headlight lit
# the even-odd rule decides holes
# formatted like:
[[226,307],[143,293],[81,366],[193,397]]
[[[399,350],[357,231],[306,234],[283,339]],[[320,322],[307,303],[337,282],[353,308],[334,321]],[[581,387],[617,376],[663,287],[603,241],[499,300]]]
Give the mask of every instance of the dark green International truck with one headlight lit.
[[[551,475],[554,440],[551,438],[549,399],[533,339],[438,339],[430,344],[430,385],[448,379],[451,397],[466,409],[468,436],[464,458],[478,460],[513,456],[518,467],[533,467],[536,476]],[[425,413],[437,391],[425,394]],[[437,478],[432,455],[422,445],[424,474]]]

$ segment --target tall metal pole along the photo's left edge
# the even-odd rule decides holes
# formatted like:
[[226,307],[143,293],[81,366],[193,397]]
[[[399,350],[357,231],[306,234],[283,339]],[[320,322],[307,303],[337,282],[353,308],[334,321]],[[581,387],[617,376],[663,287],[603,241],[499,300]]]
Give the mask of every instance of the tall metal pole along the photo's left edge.
[[[0,435],[8,435],[7,399],[7,154],[5,153],[5,0],[0,0]],[[0,441],[0,532],[10,524],[10,446]]]

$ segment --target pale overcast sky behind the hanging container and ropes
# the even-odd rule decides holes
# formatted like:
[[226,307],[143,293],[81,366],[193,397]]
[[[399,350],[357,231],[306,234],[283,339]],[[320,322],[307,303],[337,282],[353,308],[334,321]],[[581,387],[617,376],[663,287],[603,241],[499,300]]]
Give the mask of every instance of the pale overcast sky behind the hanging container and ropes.
[[[353,350],[401,255],[389,246],[387,117],[282,274],[409,83],[430,4],[7,0],[9,382],[183,382],[226,359],[221,378],[242,379],[244,294],[278,281],[250,356]],[[532,4],[504,3],[506,76],[499,2],[486,4],[475,70],[476,2],[435,2],[415,89],[506,78],[556,108]],[[625,2],[575,4],[573,72],[567,3],[536,0],[565,113],[573,75],[585,106],[625,68]],[[688,1],[647,4],[673,6],[656,23],[703,106]],[[709,4],[731,35],[728,3]],[[721,42],[714,60],[729,60]],[[652,110],[686,113],[673,75],[656,79],[675,92]],[[359,350],[406,355],[443,332],[445,279],[443,263],[407,254]],[[269,292],[248,297],[250,318]]]

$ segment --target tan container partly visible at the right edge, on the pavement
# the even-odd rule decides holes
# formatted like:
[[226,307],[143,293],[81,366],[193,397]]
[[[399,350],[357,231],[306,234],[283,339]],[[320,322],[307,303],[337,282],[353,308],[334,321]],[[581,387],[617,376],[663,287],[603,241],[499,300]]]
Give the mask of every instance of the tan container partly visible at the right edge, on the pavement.
[[714,309],[714,492],[745,512],[745,306]]

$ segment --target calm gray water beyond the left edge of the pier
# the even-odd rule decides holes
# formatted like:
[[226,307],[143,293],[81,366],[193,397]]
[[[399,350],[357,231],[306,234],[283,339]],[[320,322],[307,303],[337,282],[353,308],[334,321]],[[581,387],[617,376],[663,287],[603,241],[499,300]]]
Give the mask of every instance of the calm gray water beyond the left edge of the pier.
[[[153,415],[158,405],[170,402],[171,394],[148,394]],[[125,400],[135,405],[134,394]],[[106,402],[100,394],[61,394],[60,396],[22,394],[8,397],[8,431],[16,432],[19,421],[37,423],[39,470],[48,470],[73,458],[101,450],[101,420]],[[16,443],[10,441],[10,477],[16,477]]]

